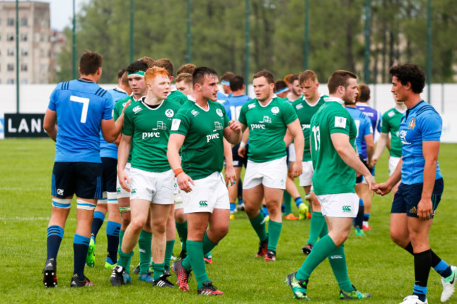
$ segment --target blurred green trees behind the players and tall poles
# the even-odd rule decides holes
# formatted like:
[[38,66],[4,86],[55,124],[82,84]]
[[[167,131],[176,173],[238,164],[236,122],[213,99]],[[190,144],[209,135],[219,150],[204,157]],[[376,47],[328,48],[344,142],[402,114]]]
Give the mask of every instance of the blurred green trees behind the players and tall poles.
[[[334,70],[364,79],[366,0],[309,0],[308,68],[326,82]],[[371,0],[370,82],[389,82],[389,67],[414,62],[426,69],[427,0]],[[455,82],[457,6],[432,1],[432,81]],[[276,78],[304,70],[305,0],[250,0],[249,77],[270,70]],[[130,1],[92,0],[76,18],[77,58],[85,49],[103,55],[101,82],[116,82],[130,58]],[[134,0],[134,58],[186,63],[187,0]],[[56,81],[72,77],[72,28],[58,58]],[[191,62],[219,74],[245,76],[245,1],[191,0]]]

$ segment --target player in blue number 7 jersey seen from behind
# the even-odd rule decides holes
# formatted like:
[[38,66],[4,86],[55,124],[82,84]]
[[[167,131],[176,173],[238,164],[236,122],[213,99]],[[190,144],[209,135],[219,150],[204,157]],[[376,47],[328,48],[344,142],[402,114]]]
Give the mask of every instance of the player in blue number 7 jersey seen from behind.
[[73,239],[74,269],[71,287],[94,285],[84,275],[91,223],[97,199],[101,199],[100,137],[108,143],[119,136],[124,114],[114,121],[112,97],[98,86],[103,58],[85,51],[79,60],[81,78],[57,85],[44,116],[44,129],[56,141],[52,174],[52,214],[47,230],[47,258],[43,283],[57,286],[56,258],[63,228],[76,194],[77,226]]

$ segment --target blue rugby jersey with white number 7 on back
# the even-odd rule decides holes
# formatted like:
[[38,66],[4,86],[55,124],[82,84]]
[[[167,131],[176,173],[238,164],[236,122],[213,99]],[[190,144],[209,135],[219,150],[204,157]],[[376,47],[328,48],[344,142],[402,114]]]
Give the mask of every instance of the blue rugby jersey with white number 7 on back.
[[101,120],[112,119],[112,97],[94,81],[61,82],[51,93],[57,114],[54,161],[100,163]]

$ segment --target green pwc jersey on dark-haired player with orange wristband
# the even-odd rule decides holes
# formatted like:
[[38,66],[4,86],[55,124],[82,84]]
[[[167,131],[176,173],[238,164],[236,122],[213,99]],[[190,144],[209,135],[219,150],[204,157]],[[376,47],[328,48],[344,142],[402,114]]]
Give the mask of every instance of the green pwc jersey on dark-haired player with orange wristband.
[[173,119],[171,133],[186,136],[181,147],[181,166],[193,180],[206,178],[224,166],[224,107],[208,100],[208,110],[195,102],[185,103]]

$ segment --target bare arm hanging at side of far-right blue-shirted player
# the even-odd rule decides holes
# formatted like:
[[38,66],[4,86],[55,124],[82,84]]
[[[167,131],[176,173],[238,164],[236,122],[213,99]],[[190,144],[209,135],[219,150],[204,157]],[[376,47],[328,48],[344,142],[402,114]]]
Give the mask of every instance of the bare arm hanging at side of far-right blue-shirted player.
[[422,220],[430,219],[433,215],[432,192],[435,186],[437,161],[439,154],[439,141],[423,141],[423,156],[425,159],[422,197],[418,204],[418,217]]

